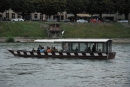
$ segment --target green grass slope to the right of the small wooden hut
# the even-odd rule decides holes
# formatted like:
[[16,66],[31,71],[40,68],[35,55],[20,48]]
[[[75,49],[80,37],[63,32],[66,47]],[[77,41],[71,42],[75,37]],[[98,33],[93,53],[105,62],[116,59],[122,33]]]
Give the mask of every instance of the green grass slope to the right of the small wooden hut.
[[124,28],[120,23],[112,24],[74,24],[64,26],[64,37],[71,38],[129,38],[130,28]]

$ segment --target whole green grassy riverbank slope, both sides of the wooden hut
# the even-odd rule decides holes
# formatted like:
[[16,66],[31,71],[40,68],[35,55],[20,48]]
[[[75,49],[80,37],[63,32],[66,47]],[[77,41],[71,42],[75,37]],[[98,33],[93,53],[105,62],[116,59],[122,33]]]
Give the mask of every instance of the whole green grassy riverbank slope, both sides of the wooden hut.
[[[0,37],[48,38],[47,22],[0,22]],[[130,27],[120,23],[59,23],[63,38],[130,38]]]

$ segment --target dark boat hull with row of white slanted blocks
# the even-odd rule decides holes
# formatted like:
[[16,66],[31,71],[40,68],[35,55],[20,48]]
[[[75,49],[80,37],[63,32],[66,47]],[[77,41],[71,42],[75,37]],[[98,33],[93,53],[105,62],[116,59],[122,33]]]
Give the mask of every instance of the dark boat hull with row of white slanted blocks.
[[36,57],[36,58],[82,58],[82,59],[113,59],[116,53],[104,53],[104,52],[51,52],[51,53],[40,53],[25,50],[8,50],[14,56],[20,57]]

